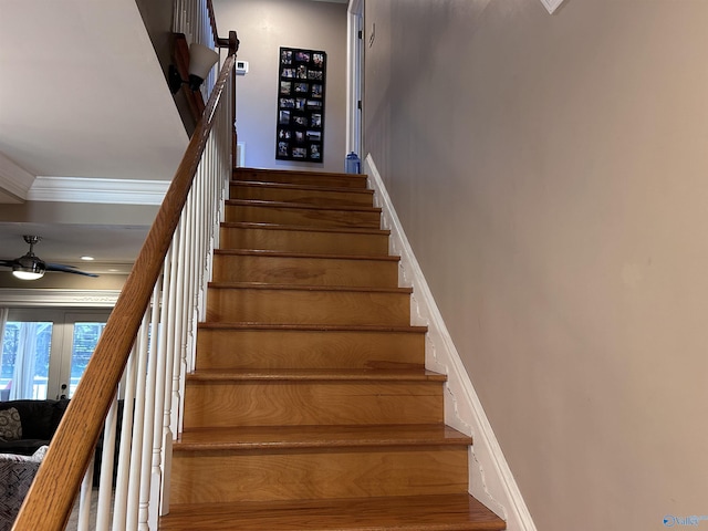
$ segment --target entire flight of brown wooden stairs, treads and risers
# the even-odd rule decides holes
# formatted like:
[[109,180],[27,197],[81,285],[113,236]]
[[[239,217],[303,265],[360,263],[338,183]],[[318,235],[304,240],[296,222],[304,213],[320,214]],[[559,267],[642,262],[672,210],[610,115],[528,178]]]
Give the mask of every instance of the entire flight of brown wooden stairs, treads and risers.
[[501,530],[365,176],[237,169],[163,531]]

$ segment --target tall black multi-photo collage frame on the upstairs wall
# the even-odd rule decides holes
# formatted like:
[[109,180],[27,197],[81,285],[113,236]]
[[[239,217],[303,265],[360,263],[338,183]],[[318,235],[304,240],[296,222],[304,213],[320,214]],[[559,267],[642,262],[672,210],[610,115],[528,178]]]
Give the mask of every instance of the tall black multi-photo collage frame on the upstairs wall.
[[322,163],[327,55],[321,50],[281,48],[278,76],[275,158]]

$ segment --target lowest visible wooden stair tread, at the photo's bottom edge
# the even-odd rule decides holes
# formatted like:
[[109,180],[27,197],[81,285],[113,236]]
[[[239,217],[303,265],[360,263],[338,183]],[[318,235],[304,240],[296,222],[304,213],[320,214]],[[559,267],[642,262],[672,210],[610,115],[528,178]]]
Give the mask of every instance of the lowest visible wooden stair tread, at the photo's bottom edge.
[[496,531],[506,523],[469,494],[171,506],[162,531]]

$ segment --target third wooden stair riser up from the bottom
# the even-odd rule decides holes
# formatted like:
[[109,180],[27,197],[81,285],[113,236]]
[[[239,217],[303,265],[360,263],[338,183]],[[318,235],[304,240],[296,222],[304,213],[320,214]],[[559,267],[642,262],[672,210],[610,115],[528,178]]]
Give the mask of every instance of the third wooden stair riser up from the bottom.
[[425,334],[200,329],[197,352],[197,369],[423,368]]

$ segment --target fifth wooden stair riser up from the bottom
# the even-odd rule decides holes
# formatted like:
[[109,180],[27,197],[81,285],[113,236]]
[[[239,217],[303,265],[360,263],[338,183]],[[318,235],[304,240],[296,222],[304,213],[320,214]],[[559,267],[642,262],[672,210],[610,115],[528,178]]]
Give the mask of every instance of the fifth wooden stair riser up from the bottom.
[[396,288],[398,263],[389,260],[215,254],[216,282]]

